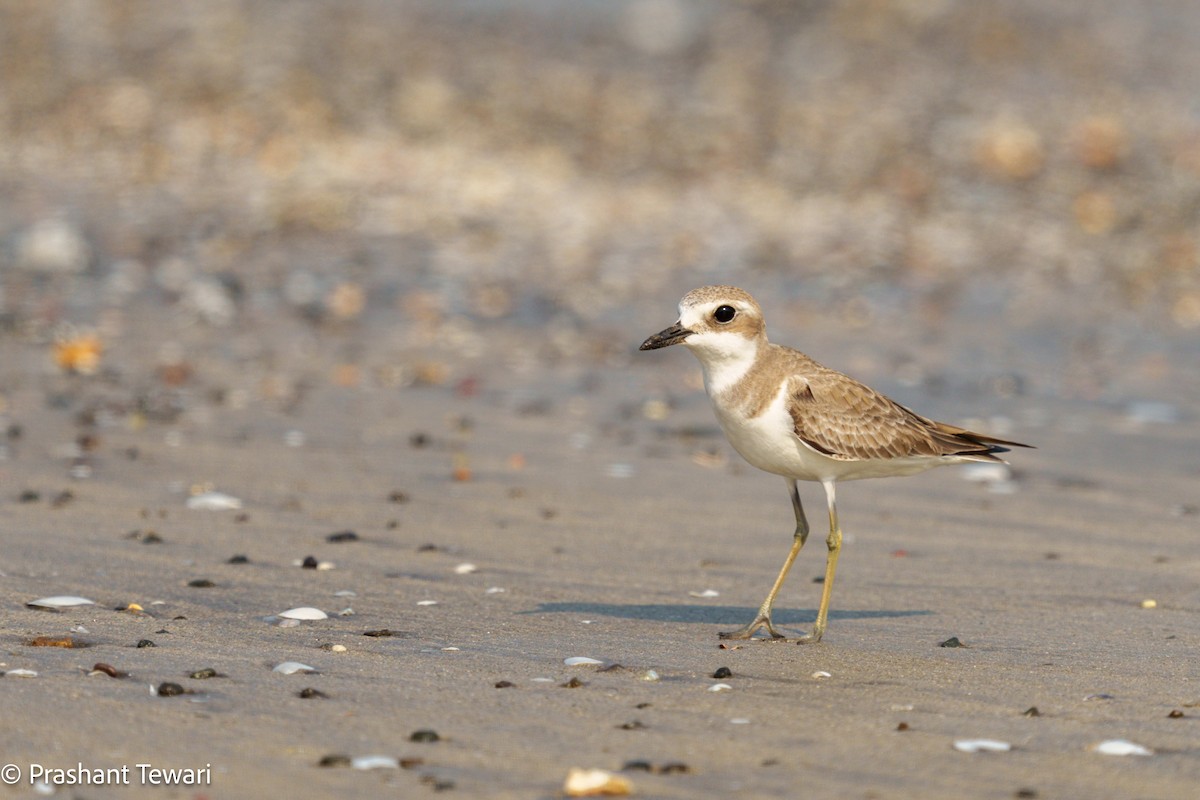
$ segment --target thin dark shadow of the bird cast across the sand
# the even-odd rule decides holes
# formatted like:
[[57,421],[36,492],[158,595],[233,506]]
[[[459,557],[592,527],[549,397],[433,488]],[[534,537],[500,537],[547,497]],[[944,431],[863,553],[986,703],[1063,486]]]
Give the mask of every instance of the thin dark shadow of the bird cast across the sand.
[[[668,603],[539,603],[533,610],[520,614],[588,614],[617,616],[620,619],[646,619],[656,622],[700,622],[704,625],[740,625],[754,618],[757,608],[746,606],[686,606]],[[886,619],[895,616],[924,616],[928,610],[836,610],[830,609],[829,619]],[[817,618],[816,609],[772,610],[776,625],[806,625]]]

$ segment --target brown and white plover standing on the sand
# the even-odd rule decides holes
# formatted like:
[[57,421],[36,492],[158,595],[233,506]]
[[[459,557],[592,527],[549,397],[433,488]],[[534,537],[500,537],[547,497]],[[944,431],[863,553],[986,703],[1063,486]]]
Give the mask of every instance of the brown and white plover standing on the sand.
[[796,512],[792,549],[758,614],[724,639],[748,639],[770,622],[770,609],[787,571],[809,535],[797,481],[818,481],[829,506],[829,548],[821,606],[812,630],[799,642],[818,642],[829,616],[841,529],[839,481],[913,475],[932,467],[1000,462],[996,453],[1028,447],[935,422],[870,386],[824,367],[798,350],[767,341],[762,309],[736,287],[702,287],[679,301],[674,325],[642,342],[642,350],[672,344],[690,349],[704,371],[713,411],[733,449],[761,470],[787,482]]

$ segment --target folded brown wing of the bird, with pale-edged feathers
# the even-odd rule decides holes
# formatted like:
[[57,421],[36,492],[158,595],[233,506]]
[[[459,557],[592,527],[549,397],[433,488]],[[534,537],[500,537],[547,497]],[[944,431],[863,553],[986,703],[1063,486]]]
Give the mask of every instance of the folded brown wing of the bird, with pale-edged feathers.
[[792,379],[792,425],[796,435],[815,450],[840,461],[905,456],[974,456],[1000,461],[994,439],[914,414],[904,405],[832,369],[818,368]]

